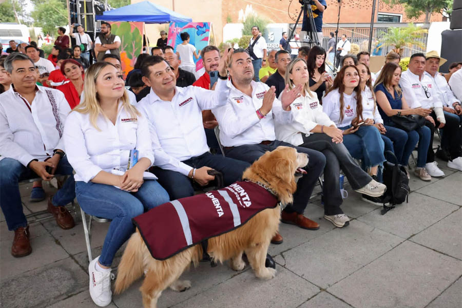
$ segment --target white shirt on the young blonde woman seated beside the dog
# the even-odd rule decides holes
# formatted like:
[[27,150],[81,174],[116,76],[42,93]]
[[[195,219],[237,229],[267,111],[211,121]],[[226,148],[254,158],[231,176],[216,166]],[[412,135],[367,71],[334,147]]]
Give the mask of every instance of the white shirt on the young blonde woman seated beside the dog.
[[72,111],[67,118],[64,143],[67,159],[75,170],[75,181],[88,183],[102,170],[125,171],[133,149],[140,151],[138,159],[145,157],[151,164],[154,162],[149,127],[143,115],[133,118],[120,102],[115,125],[103,115],[98,117],[97,125],[100,130],[90,123],[88,113]]

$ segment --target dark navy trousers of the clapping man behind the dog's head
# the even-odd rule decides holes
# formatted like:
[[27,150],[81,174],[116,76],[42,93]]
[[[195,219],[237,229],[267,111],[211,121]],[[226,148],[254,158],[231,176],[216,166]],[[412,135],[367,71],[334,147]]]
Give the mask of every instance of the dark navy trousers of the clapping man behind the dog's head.
[[313,189],[318,181],[318,178],[322,174],[325,166],[325,157],[321,152],[307,149],[299,146],[293,146],[290,143],[275,140],[269,144],[252,144],[252,145],[240,145],[225,149],[227,157],[239,159],[249,163],[255,162],[260,158],[266,151],[272,151],[278,146],[290,146],[296,148],[300,153],[306,153],[309,156],[309,162],[304,169],[307,174],[300,178],[297,182],[297,191],[294,194],[294,203],[288,204],[284,211],[287,213],[293,213],[294,211],[298,214],[303,214],[305,207],[310,200]]

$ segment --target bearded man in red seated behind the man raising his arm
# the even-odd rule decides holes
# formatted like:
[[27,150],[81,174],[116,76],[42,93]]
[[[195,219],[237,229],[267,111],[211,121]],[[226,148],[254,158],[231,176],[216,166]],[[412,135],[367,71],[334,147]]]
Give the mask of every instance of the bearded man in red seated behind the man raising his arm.
[[[218,65],[220,64],[220,50],[213,46],[205,46],[201,50],[202,63],[204,64],[204,74],[192,85],[204,89],[214,89],[214,84],[210,84],[210,72],[218,73]],[[210,110],[202,110],[202,124],[205,130],[205,137],[207,138],[207,145],[211,152],[220,151],[217,137],[215,136],[215,127],[218,122]]]

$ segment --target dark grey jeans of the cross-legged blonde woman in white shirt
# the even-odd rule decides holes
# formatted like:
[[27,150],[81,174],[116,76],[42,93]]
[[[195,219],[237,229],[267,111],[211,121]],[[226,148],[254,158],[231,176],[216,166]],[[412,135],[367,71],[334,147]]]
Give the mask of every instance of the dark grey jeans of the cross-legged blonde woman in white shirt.
[[343,198],[340,194],[340,169],[347,176],[348,182],[353,189],[359,189],[372,178],[364,172],[353,160],[343,143],[334,143],[332,138],[325,133],[312,133],[306,137],[303,134],[301,147],[320,151],[325,156],[324,187],[322,189],[324,199],[324,214],[343,214],[340,205]]

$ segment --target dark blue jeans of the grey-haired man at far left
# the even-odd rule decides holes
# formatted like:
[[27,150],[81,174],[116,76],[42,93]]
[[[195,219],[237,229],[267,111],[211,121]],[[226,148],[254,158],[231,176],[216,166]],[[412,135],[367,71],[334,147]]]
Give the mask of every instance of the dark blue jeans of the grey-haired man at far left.
[[[60,160],[55,174],[70,176],[52,199],[54,206],[64,206],[75,198],[72,167],[66,157]],[[10,231],[27,226],[18,182],[34,178],[38,178],[35,172],[17,160],[12,158],[0,160],[0,205]]]

